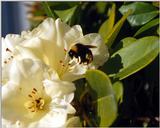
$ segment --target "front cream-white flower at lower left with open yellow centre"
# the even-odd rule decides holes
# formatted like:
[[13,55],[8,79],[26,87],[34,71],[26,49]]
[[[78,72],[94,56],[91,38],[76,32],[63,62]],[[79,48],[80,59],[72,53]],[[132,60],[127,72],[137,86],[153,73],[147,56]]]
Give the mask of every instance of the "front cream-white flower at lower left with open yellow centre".
[[23,59],[14,61],[12,78],[2,86],[2,126],[63,127],[71,106],[75,86],[72,83],[43,80],[41,62]]

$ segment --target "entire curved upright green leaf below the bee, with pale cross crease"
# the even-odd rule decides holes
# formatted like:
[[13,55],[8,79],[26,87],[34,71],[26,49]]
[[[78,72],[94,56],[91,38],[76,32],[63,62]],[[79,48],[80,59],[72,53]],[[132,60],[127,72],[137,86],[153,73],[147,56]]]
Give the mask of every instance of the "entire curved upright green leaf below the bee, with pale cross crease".
[[117,102],[109,77],[100,70],[88,70],[86,79],[96,97],[99,126],[110,126],[117,116]]

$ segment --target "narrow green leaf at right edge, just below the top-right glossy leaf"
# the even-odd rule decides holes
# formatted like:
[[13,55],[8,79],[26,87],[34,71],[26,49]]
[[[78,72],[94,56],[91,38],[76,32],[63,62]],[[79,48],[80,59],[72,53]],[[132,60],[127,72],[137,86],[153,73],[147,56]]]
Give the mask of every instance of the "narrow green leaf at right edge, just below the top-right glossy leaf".
[[154,27],[154,26],[156,26],[156,25],[158,25],[158,24],[159,24],[159,18],[154,19],[154,20],[150,21],[149,23],[145,24],[144,26],[142,26],[142,27],[135,33],[134,36],[137,36],[137,35],[141,34],[142,32],[144,32],[144,31],[146,31],[146,30],[148,30],[148,29],[150,29],[150,28],[152,28],[152,27]]

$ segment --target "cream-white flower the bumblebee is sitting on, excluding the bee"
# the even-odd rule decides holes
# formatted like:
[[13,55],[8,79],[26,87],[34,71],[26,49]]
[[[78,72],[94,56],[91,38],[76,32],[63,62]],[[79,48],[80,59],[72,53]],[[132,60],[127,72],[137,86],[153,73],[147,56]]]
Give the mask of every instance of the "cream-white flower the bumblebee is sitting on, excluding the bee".
[[[109,56],[106,45],[99,34],[83,35],[79,25],[70,27],[60,19],[54,21],[52,18],[47,18],[32,31],[22,32],[21,38],[24,41],[16,47],[19,56],[43,61],[57,73],[61,80],[79,79],[83,77],[87,69],[95,69],[103,65]],[[93,54],[91,63],[80,64],[81,57],[77,57],[75,61],[76,57],[72,59],[69,56],[69,51],[77,43],[95,47],[89,49]]]

